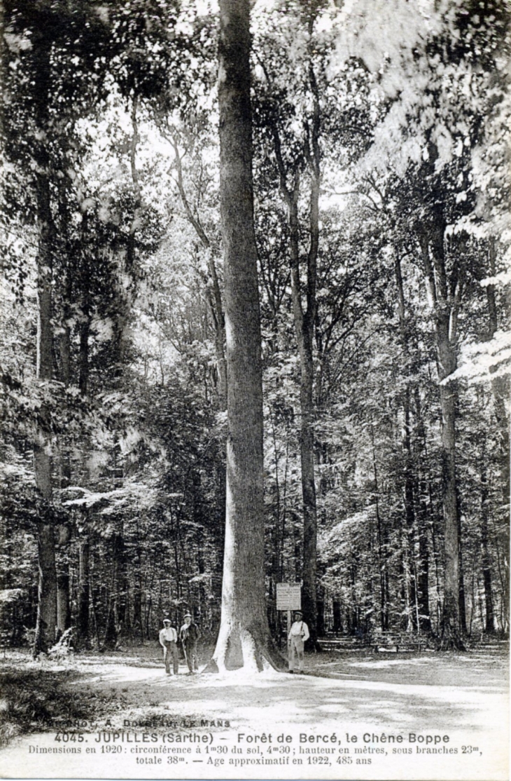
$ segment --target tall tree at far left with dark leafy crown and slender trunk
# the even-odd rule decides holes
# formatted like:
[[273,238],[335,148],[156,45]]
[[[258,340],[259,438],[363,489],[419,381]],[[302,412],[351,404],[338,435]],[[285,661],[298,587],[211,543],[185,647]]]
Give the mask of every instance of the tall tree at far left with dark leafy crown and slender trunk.
[[[5,112],[2,128],[5,154],[24,177],[23,193],[10,185],[5,194],[8,212],[23,209],[23,219],[34,223],[37,236],[37,366],[41,405],[34,437],[34,480],[38,491],[38,608],[34,653],[55,642],[57,587],[52,441],[55,437],[51,402],[54,401],[55,273],[62,252],[57,229],[57,202],[69,184],[76,162],[76,119],[87,109],[90,92],[98,97],[90,73],[101,49],[101,23],[90,8],[73,3],[8,2],[5,4]],[[87,16],[90,14],[90,17]],[[99,34],[98,34],[99,33]],[[74,52],[70,52],[73,41]],[[73,65],[71,59],[73,58]],[[98,80],[98,74],[96,74]],[[90,108],[90,103],[88,104]],[[14,183],[18,177],[12,177]],[[20,213],[22,212],[20,209]]]

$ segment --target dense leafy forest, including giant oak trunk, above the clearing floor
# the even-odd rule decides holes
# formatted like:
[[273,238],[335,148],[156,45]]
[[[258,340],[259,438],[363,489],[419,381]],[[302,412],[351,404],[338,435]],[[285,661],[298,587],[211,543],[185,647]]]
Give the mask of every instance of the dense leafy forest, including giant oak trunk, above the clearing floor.
[[509,4],[219,5],[5,0],[2,645],[508,637]]

